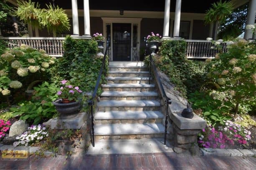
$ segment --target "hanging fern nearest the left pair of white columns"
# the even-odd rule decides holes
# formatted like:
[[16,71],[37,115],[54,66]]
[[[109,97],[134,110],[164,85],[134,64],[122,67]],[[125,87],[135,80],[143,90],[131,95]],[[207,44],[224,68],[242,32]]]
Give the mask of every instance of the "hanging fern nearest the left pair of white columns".
[[56,32],[63,32],[70,29],[69,19],[65,10],[58,6],[47,5],[48,9],[43,9],[40,14],[41,25],[46,27],[48,32],[53,32],[53,37],[56,37]]

